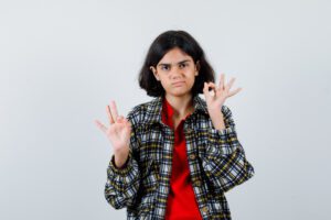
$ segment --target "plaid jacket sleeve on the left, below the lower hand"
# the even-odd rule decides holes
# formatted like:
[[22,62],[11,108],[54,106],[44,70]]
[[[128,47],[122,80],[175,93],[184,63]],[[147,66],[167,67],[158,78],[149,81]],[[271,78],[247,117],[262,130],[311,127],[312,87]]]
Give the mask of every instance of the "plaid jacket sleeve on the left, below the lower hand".
[[107,167],[105,198],[115,209],[134,205],[139,189],[140,172],[135,156],[138,142],[134,124],[131,128],[130,148],[127,162],[122,167],[118,168],[115,165],[115,155],[113,155]]

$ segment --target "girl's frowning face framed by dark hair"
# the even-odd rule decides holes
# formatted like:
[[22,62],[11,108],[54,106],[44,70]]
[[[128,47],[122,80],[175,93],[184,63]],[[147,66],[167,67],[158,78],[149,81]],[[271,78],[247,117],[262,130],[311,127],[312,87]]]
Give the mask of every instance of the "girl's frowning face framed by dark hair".
[[160,59],[157,68],[153,66],[150,68],[166,94],[177,97],[191,92],[195,76],[199,74],[193,58],[178,47],[170,50]]

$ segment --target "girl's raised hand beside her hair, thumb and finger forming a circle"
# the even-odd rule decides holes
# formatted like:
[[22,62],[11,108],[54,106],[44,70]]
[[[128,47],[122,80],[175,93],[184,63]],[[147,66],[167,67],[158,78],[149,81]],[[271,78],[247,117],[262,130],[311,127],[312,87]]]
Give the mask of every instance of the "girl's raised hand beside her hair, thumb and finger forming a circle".
[[[225,74],[221,74],[218,87],[216,87],[214,82],[204,82],[203,94],[210,111],[218,111],[226,98],[232,97],[242,90],[242,88],[237,88],[234,91],[229,91],[235,78],[232,78],[226,86],[224,86],[224,78]],[[210,88],[213,89],[214,95],[210,94]]]

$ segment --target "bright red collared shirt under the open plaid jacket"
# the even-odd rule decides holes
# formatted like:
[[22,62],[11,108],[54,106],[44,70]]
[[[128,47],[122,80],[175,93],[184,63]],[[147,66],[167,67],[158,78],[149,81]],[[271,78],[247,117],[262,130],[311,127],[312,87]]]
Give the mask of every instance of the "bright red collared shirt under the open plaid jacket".
[[[173,130],[173,109],[164,98],[162,108],[162,122]],[[190,113],[185,117],[185,119]],[[172,157],[172,172],[170,179],[170,193],[167,201],[166,220],[201,220],[201,213],[195,199],[190,177],[186,143],[183,132],[182,119],[174,131],[174,146]]]

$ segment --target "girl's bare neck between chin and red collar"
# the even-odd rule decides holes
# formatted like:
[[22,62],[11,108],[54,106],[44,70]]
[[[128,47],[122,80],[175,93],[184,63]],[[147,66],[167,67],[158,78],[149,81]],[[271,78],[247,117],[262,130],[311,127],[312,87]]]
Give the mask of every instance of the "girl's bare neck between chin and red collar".
[[193,99],[192,95],[188,94],[184,96],[171,96],[166,95],[167,101],[173,109],[173,117],[175,118],[184,118],[188,113],[193,112]]

